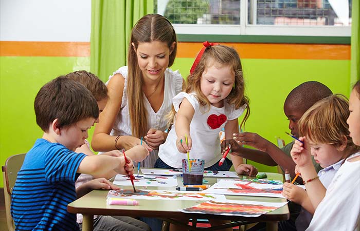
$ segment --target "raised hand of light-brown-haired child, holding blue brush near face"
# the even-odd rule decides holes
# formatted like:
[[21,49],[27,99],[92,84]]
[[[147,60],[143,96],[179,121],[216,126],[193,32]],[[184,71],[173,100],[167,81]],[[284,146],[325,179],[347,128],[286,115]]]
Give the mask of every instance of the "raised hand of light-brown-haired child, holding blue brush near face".
[[312,165],[309,141],[306,137],[300,137],[299,140],[304,143],[295,140],[293,148],[290,151],[291,157],[298,166],[298,169],[309,164]]

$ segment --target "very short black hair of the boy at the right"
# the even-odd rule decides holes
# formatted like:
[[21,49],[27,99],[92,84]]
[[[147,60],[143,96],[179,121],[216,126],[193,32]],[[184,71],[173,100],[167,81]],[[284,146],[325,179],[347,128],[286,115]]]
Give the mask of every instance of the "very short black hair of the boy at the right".
[[296,105],[299,111],[305,112],[316,102],[332,94],[333,92],[326,85],[317,81],[308,81],[290,91],[285,104]]

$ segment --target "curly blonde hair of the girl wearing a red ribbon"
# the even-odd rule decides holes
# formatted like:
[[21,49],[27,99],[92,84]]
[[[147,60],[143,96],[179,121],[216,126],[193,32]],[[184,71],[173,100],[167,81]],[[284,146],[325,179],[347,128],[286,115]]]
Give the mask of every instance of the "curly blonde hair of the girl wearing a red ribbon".
[[195,92],[200,104],[207,108],[207,111],[210,110],[210,102],[201,91],[200,81],[205,69],[210,65],[216,64],[220,64],[222,66],[230,66],[233,73],[235,74],[234,86],[225,100],[228,104],[235,106],[235,109],[239,109],[245,104],[247,105],[245,117],[240,124],[240,127],[242,127],[242,125],[249,117],[250,107],[249,99],[244,93],[245,84],[240,57],[235,49],[223,45],[207,47],[203,55],[201,56],[199,64],[197,64],[194,71],[187,78],[187,87],[185,91],[187,93]]

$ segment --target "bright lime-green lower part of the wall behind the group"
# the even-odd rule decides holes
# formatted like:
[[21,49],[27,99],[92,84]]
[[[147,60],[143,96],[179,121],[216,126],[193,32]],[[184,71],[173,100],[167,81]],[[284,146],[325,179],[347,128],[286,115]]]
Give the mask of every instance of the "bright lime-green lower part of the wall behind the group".
[[[192,62],[192,58],[178,58],[172,69],[186,76]],[[242,63],[251,109],[245,130],[258,132],[274,143],[276,136],[286,143],[291,141],[284,133],[289,129],[282,106],[287,93],[300,83],[316,80],[349,96],[350,61],[243,59]],[[33,111],[41,86],[58,75],[89,70],[89,64],[89,57],[0,56],[1,165],[9,156],[28,151],[42,136]],[[276,171],[275,167],[255,165],[259,171]]]

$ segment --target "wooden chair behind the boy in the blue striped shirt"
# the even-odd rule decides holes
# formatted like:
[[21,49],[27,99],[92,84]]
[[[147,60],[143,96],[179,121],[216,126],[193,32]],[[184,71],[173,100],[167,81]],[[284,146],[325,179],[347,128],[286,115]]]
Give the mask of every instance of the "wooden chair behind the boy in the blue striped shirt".
[[3,180],[4,180],[6,223],[8,225],[9,231],[15,230],[15,225],[10,214],[12,188],[14,187],[16,181],[17,172],[20,170],[21,166],[23,165],[25,154],[26,153],[22,153],[9,157],[5,162],[5,166],[2,166]]

